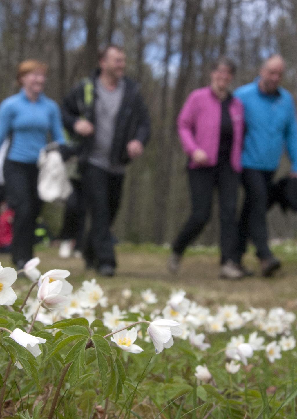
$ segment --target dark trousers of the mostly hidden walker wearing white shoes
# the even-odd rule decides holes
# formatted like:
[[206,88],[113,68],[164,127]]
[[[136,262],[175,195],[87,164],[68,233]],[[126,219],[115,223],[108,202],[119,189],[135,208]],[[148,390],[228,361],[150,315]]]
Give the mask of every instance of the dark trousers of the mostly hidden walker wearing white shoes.
[[66,201],[61,240],[75,239],[75,249],[83,250],[83,237],[86,220],[86,199],[82,182],[71,179],[73,192]]

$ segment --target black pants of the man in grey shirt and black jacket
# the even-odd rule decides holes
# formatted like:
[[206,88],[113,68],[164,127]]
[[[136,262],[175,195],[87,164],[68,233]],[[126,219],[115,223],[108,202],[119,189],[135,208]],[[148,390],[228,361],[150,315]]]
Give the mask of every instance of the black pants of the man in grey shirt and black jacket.
[[123,175],[113,175],[87,163],[83,187],[91,209],[91,229],[84,252],[87,263],[116,266],[110,226],[120,205]]

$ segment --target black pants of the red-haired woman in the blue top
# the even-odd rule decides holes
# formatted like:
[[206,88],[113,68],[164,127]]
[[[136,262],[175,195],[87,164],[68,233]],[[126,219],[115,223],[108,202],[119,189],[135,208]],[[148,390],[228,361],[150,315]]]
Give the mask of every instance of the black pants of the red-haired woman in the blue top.
[[13,263],[33,257],[35,220],[41,207],[37,195],[38,169],[35,164],[5,160],[4,179],[8,206],[15,211],[13,222]]

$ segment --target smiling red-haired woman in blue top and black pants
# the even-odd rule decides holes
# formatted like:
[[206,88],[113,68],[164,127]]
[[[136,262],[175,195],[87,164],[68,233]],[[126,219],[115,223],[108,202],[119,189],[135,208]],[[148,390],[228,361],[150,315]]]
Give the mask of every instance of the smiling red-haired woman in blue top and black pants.
[[64,143],[60,110],[44,95],[47,65],[26,60],[18,67],[22,87],[0,106],[0,145],[10,137],[4,163],[5,192],[8,205],[15,211],[12,256],[18,269],[32,258],[34,226],[40,209],[37,196],[36,166],[40,150],[52,140]]

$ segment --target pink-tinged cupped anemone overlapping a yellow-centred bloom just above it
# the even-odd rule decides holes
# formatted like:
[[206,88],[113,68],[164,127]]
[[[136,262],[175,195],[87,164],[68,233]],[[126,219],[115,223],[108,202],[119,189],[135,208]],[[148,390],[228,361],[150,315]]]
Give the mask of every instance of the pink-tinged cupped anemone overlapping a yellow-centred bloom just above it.
[[65,307],[69,304],[70,299],[61,295],[62,288],[63,282],[59,279],[50,282],[49,277],[44,278],[37,293],[39,303],[49,309]]

